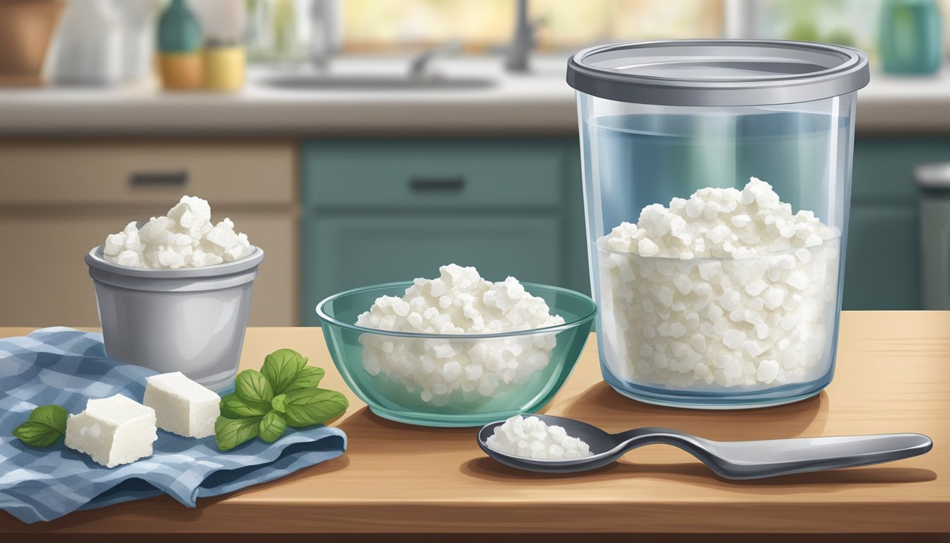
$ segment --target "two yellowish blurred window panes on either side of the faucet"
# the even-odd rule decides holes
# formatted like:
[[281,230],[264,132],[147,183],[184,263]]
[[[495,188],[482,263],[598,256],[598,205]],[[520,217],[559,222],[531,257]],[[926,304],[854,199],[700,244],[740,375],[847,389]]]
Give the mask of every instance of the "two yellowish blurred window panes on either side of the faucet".
[[[718,37],[724,0],[529,0],[540,51],[601,42]],[[343,0],[346,52],[387,52],[458,41],[489,52],[511,41],[516,0]]]

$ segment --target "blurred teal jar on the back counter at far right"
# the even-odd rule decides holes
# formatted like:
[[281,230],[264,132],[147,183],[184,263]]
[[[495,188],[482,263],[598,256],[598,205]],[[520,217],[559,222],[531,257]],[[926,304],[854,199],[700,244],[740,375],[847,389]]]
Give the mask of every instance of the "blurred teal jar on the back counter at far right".
[[878,48],[887,73],[922,75],[940,69],[943,29],[937,0],[884,0]]

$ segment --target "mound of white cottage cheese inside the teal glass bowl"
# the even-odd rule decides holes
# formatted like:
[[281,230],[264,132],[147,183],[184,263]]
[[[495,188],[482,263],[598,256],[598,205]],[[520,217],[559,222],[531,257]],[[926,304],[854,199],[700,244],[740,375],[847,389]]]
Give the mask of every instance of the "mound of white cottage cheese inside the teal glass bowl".
[[[515,278],[492,282],[474,267],[449,264],[434,280],[416,279],[405,296],[384,296],[356,324],[417,334],[494,334],[563,324],[547,303]],[[363,366],[373,376],[405,386],[433,406],[453,394],[464,400],[494,398],[548,365],[555,333],[511,338],[399,338],[360,336]]]

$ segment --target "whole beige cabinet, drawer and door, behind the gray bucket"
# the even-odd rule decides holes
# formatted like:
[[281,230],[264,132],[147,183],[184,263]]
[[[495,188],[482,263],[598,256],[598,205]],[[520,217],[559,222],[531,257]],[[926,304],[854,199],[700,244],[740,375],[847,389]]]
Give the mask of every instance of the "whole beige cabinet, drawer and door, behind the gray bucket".
[[98,325],[85,253],[182,194],[263,247],[251,324],[295,324],[296,155],[290,143],[0,143],[0,325]]

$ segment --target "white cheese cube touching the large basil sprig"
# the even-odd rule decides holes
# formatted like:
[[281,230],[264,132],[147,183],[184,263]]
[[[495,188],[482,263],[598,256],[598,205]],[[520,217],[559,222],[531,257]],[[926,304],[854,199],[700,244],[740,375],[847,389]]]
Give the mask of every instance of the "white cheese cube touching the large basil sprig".
[[185,437],[215,435],[221,398],[181,372],[148,378],[145,405],[155,410],[159,428]]

